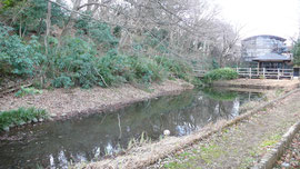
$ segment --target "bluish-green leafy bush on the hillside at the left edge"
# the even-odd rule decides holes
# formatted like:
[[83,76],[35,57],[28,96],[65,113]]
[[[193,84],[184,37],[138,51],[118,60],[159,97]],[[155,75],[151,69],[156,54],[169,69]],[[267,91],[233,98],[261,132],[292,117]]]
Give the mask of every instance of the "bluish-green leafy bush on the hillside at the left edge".
[[33,76],[44,56],[39,52],[36,37],[24,43],[18,36],[9,36],[12,29],[0,22],[0,72],[3,74]]

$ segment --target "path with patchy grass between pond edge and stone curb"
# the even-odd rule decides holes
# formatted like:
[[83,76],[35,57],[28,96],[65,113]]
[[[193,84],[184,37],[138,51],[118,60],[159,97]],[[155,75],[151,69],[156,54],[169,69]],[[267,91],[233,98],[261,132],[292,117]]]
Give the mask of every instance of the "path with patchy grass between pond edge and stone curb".
[[300,92],[149,168],[250,168],[300,119]]

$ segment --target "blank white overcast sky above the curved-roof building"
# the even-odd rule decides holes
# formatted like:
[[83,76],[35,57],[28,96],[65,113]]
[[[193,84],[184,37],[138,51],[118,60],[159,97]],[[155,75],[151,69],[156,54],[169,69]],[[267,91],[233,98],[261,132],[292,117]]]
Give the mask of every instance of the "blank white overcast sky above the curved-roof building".
[[233,26],[242,27],[242,38],[273,34],[297,38],[300,22],[300,0],[213,0],[220,16]]

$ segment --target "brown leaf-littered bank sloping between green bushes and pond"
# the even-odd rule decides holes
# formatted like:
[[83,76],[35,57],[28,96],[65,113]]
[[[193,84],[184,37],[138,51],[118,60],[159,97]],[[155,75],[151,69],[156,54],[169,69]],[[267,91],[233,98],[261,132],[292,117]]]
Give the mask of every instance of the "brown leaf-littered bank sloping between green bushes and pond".
[[78,115],[113,110],[120,107],[167,95],[177,95],[193,86],[183,80],[167,80],[153,83],[142,90],[130,84],[118,88],[92,88],[89,90],[56,89],[43,90],[41,95],[17,98],[13,93],[0,98],[0,111],[19,107],[46,109],[53,119],[63,119]]

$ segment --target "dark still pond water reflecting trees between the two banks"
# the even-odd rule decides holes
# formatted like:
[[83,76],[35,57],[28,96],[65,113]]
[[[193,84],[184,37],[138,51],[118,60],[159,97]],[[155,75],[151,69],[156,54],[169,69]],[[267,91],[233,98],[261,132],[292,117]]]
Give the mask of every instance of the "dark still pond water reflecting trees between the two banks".
[[126,148],[144,132],[158,140],[163,130],[189,135],[218,119],[239,115],[244,102],[259,93],[193,90],[134,103],[116,112],[67,121],[46,122],[2,135],[0,168],[68,168],[93,161]]

